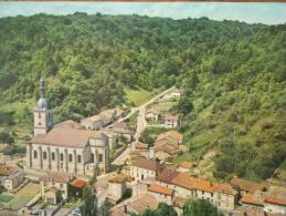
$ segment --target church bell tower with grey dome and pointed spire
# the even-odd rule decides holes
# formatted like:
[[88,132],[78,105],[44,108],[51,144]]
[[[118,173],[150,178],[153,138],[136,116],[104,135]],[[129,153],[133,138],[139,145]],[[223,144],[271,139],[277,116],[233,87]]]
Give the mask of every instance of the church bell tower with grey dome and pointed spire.
[[40,80],[40,99],[34,107],[34,136],[46,134],[53,126],[53,111],[49,107],[45,99],[45,85],[43,79]]

